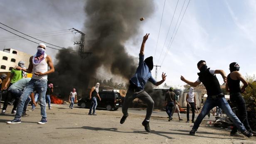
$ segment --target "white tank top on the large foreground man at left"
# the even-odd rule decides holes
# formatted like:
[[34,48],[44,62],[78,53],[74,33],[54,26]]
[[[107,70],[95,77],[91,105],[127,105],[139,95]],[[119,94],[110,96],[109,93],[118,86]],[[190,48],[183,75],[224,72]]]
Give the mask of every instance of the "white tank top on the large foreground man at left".
[[[44,79],[44,80],[47,80],[47,75],[42,75],[42,76],[36,76],[34,73],[35,72],[41,72],[41,73],[45,73],[48,71],[48,64],[46,62],[46,56],[47,54],[44,54],[44,59],[38,63],[38,64],[34,64],[33,62],[33,76],[32,78],[34,79],[37,79],[37,80],[40,80],[40,79]],[[34,59],[34,56],[33,56],[33,59]]]

